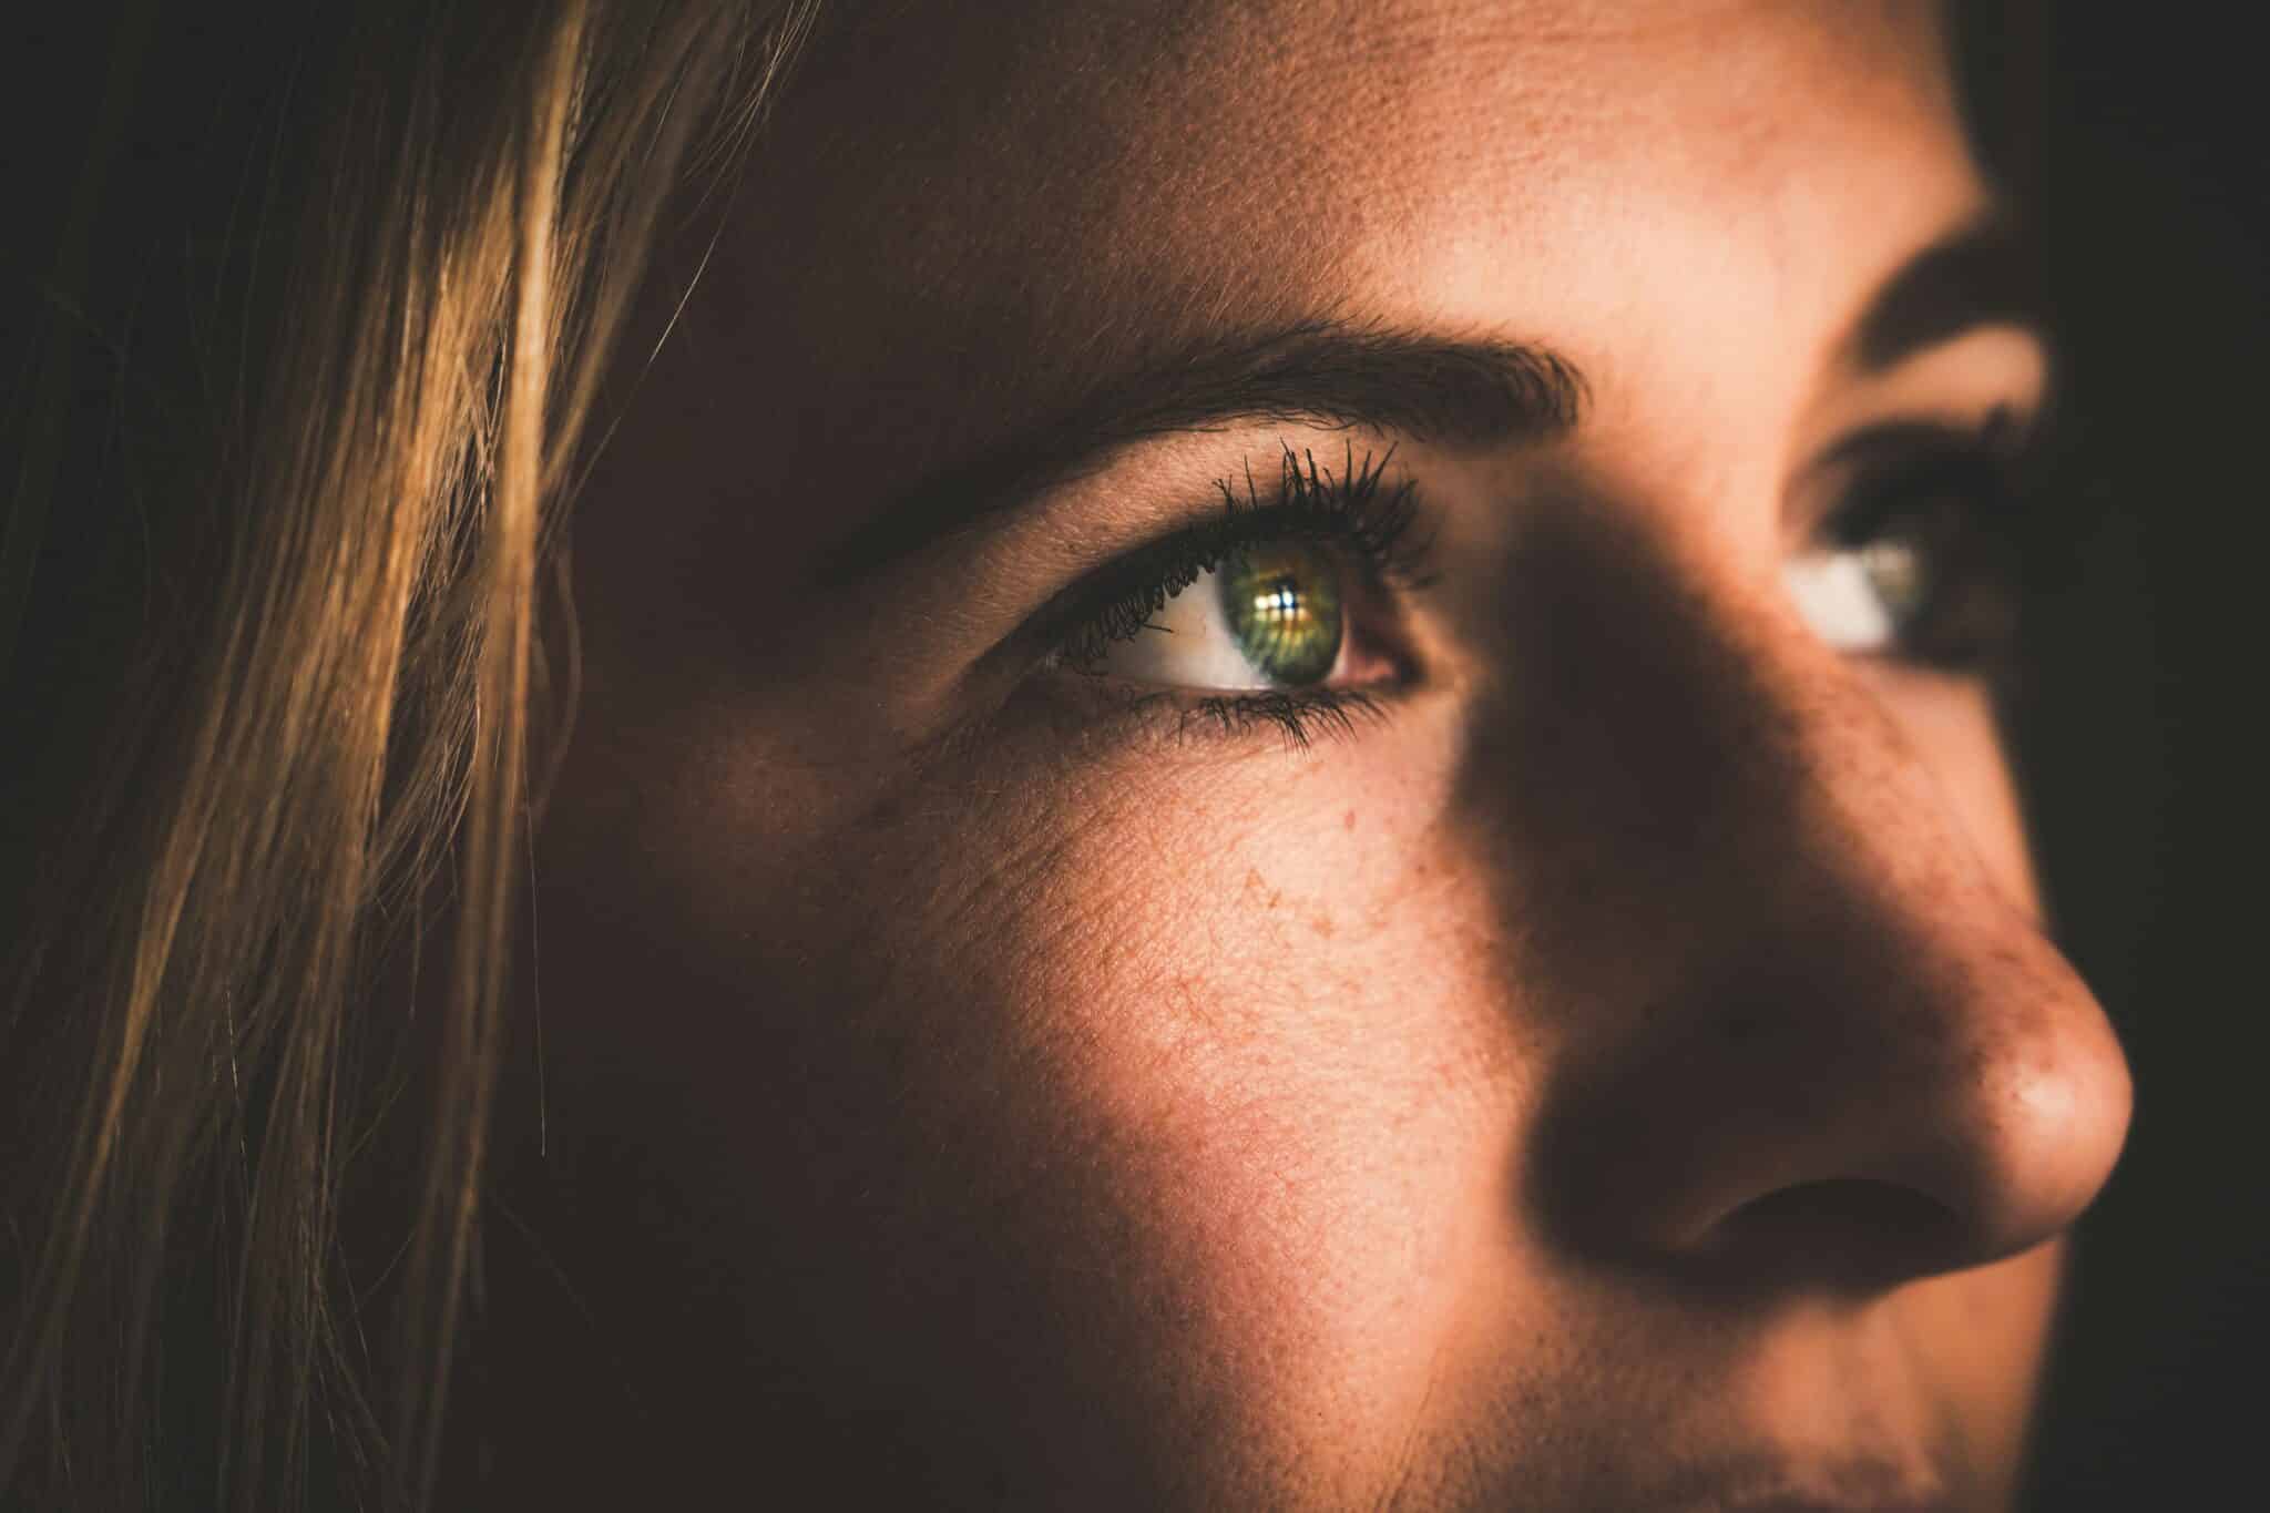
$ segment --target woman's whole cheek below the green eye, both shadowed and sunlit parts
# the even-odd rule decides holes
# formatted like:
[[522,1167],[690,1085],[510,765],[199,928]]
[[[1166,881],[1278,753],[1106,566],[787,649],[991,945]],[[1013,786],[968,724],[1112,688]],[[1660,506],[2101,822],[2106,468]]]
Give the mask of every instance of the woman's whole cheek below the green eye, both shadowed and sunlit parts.
[[781,1288],[822,1320],[822,1391],[949,1402],[1001,1461],[1108,1454],[1162,1497],[1353,1495],[1512,1157],[1503,1023],[1462,989],[1487,932],[1435,860],[1448,764],[1151,767],[944,776],[801,835],[810,805],[720,774],[642,785],[706,798],[561,860],[556,1091],[738,1236],[722,1266],[765,1282],[733,1327]]

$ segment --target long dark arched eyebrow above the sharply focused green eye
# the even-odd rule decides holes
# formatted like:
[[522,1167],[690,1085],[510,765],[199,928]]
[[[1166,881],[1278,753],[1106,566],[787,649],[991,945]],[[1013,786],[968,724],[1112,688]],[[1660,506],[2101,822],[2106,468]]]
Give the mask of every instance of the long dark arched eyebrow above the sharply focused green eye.
[[835,547],[819,569],[840,585],[1015,510],[1103,454],[1233,424],[1371,426],[1412,440],[1505,445],[1573,431],[1584,377],[1548,347],[1444,340],[1312,320],[1214,338],[1094,388],[974,463],[924,479]]

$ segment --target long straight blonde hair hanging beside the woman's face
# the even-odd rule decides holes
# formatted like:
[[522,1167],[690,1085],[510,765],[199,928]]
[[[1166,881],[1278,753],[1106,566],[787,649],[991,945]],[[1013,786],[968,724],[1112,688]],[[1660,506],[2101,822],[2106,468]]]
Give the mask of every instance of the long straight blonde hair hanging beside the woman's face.
[[[0,1502],[420,1506],[531,705],[563,712],[552,517],[665,209],[722,181],[813,0],[277,7],[177,122],[154,9],[11,290]],[[168,132],[204,132],[182,184]],[[409,1005],[370,982],[434,898],[388,1354],[340,1195],[404,1087]]]

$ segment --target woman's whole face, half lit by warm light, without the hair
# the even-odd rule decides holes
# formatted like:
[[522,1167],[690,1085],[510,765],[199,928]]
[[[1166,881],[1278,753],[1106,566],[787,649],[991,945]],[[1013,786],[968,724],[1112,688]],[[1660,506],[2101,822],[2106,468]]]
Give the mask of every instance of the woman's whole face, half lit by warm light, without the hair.
[[878,11],[577,515],[545,1248],[642,1474],[2000,1506],[2129,1084],[1934,9]]

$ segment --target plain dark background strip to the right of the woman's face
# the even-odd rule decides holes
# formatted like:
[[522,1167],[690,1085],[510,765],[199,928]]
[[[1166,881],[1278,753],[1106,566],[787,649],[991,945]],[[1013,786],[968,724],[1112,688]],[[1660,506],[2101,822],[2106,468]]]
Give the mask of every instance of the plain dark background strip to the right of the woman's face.
[[2034,1506],[2270,1506],[2270,225],[2247,5],[2057,5],[1979,27],[2063,336],[2020,760],[2059,935],[2136,1073],[2082,1223]]

